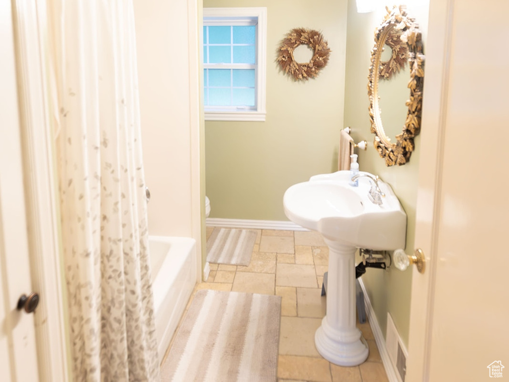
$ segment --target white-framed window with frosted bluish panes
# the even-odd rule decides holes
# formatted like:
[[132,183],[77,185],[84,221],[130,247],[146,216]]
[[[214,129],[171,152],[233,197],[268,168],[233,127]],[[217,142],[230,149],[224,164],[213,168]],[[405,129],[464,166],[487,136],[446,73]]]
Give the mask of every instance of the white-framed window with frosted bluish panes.
[[266,8],[204,8],[205,119],[265,121]]

